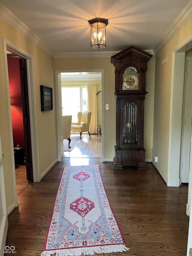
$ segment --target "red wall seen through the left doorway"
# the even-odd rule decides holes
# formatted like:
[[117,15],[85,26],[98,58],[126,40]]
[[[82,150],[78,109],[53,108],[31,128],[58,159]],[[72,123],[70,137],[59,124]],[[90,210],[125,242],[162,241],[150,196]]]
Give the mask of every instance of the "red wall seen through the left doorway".
[[17,145],[21,145],[21,147],[25,148],[19,59],[22,58],[7,58],[7,62],[13,127],[13,146],[16,147]]

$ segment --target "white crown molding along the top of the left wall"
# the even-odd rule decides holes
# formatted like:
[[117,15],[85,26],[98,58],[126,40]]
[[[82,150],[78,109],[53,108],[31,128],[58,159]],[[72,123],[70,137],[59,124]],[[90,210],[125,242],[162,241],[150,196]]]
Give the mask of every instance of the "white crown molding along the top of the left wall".
[[55,55],[55,52],[49,48],[44,41],[41,40],[34,32],[31,31],[19,18],[17,18],[7,7],[5,7],[0,2],[0,17],[10,24],[14,29],[19,31],[22,35],[36,44],[39,48],[41,48],[44,52],[49,54],[52,58]]

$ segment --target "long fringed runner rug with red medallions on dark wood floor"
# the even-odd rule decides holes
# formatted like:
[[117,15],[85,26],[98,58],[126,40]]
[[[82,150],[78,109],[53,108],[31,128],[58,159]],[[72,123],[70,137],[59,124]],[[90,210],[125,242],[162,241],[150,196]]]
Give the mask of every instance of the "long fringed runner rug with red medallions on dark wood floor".
[[41,256],[128,251],[98,165],[65,166]]

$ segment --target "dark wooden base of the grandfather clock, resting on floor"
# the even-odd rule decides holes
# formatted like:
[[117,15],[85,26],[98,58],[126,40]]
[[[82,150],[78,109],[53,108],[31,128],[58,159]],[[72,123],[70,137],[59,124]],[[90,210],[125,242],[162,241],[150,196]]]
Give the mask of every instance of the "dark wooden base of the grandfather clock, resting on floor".
[[113,159],[113,170],[123,170],[124,166],[137,167],[137,170],[147,170],[145,149],[116,149]]

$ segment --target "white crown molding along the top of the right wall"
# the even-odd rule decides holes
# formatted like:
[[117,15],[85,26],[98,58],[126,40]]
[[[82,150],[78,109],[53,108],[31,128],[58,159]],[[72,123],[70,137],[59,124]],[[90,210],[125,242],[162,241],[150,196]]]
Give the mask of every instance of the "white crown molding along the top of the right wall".
[[161,40],[153,49],[154,54],[156,55],[170,39],[181,29],[181,27],[192,17],[192,0],[186,5],[183,11],[179,14],[167,32],[163,35]]

